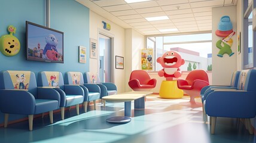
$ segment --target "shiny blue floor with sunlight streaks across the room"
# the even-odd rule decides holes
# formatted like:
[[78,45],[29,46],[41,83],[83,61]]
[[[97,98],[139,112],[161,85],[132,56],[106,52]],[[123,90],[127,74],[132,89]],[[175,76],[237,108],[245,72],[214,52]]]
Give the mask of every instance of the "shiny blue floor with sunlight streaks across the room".
[[0,128],[0,142],[256,142],[255,135],[249,135],[236,119],[217,118],[215,135],[211,135],[209,123],[203,122],[202,108],[179,105],[188,100],[187,97],[166,100],[150,95],[146,109],[132,110],[132,121],[126,124],[106,122],[108,117],[123,116],[124,103],[107,102],[105,108],[98,103],[96,110],[90,105],[87,113],[80,108],[78,116],[75,109],[66,111],[65,120],[60,120],[60,113],[54,113],[52,125],[48,116],[35,118],[32,132],[28,121]]

